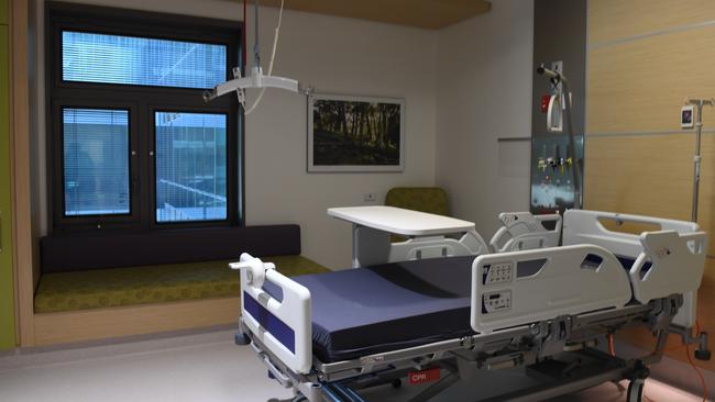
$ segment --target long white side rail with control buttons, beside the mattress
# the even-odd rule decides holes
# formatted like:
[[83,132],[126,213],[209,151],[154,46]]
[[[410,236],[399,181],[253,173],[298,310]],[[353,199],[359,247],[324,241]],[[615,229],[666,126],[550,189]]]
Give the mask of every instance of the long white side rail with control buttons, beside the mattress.
[[598,246],[483,255],[472,265],[471,323],[480,333],[623,308],[630,298],[628,275]]

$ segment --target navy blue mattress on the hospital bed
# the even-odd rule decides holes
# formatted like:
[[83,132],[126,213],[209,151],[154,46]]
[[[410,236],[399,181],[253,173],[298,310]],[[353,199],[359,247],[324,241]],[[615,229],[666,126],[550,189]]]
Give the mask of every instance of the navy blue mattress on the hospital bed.
[[314,354],[323,362],[472,334],[473,256],[306,275]]

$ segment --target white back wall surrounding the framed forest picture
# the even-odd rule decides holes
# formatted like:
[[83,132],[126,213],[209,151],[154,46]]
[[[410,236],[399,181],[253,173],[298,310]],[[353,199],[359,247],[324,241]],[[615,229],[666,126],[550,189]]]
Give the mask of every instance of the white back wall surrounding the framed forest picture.
[[[218,0],[75,2],[237,21],[241,16],[239,2]],[[261,12],[262,56],[267,68],[277,10]],[[431,31],[286,11],[274,74],[297,78],[320,92],[406,99],[406,168],[403,174],[307,174],[306,98],[268,91],[246,119],[246,223],[298,223],[304,255],[330,267],[348,267],[350,226],[329,219],[327,208],[363,204],[365,192],[376,193],[382,202],[392,187],[435,183],[436,44],[437,34]],[[38,52],[44,54],[42,47]],[[43,99],[42,91],[38,99]],[[42,142],[44,126],[38,127],[37,141]]]

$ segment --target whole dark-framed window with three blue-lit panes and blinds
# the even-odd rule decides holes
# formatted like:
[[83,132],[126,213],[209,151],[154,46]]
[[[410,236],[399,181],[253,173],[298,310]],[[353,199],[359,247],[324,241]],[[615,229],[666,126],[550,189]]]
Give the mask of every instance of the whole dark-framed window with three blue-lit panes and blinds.
[[48,7],[53,228],[241,224],[235,23]]

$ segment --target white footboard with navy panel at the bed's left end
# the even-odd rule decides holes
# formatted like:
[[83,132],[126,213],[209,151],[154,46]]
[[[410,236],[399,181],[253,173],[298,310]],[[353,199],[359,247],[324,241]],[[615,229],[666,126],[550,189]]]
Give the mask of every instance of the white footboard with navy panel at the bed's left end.
[[[312,366],[310,291],[249,254],[230,264],[241,270],[241,313],[244,327],[290,370],[308,373]],[[275,286],[271,294],[264,284]]]

